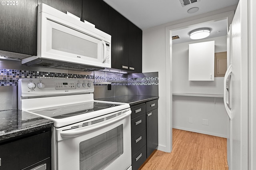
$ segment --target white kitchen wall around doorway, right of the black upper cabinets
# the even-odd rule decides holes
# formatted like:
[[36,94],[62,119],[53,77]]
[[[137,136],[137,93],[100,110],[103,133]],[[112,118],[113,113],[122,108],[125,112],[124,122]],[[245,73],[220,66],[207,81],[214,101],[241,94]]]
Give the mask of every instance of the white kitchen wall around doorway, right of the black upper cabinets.
[[[192,25],[200,22],[206,22],[206,17],[211,17],[214,15],[216,16],[212,18],[217,18],[218,16],[222,18],[222,13],[234,11],[235,9],[236,6],[231,6],[221,10],[209,12],[207,14],[202,14],[142,30],[142,72],[158,71],[159,77],[158,150],[169,152],[172,149],[168,146],[172,145],[172,138],[168,136],[172,135],[172,99],[169,100],[169,98],[172,96],[172,88],[168,86],[169,83],[172,84],[172,74],[170,74],[171,65],[166,62],[168,61],[167,59],[171,59],[172,57],[170,57],[170,55],[166,55],[166,51],[169,50],[168,47],[170,46],[167,43],[169,40],[166,39],[166,28],[174,25],[180,25],[180,27],[182,27],[188,26],[188,23]],[[228,19],[228,23],[230,23],[232,18]]]

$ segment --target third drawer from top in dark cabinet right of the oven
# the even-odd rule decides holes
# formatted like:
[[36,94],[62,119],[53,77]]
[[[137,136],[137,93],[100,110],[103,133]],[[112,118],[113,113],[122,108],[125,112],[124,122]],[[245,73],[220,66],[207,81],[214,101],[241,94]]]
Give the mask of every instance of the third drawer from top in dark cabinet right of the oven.
[[146,129],[132,138],[132,155],[134,155],[142,146],[146,144]]

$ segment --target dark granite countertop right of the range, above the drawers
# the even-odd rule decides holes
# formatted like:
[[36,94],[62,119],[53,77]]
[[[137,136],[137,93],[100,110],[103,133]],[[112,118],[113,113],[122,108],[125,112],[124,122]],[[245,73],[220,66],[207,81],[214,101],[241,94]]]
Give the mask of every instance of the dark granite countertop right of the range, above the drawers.
[[137,104],[144,103],[144,102],[151,101],[158,98],[159,98],[158,96],[124,95],[124,96],[100,98],[95,100],[129,103],[130,106],[133,106],[133,105],[137,105]]

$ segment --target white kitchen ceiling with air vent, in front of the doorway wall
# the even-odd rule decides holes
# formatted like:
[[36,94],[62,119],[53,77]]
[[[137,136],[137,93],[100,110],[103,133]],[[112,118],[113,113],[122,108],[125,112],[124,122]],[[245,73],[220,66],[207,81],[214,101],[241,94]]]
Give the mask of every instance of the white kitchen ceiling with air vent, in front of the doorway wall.
[[[184,7],[182,7],[180,0],[104,1],[143,30],[228,6],[237,5],[239,0],[194,0],[197,2],[188,4]],[[181,1],[183,2],[183,0]],[[188,14],[187,10],[193,7],[198,7],[199,10],[193,14]]]

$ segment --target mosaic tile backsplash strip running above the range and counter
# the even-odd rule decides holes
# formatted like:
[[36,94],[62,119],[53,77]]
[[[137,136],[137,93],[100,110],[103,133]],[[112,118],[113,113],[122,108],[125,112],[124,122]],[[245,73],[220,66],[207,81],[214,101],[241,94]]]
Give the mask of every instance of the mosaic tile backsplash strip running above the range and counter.
[[0,69],[1,86],[17,86],[18,79],[22,78],[62,78],[62,79],[89,79],[94,82],[111,82],[112,85],[158,85],[158,77],[127,78],[120,73],[94,71],[92,75],[52,73],[43,71],[26,71],[16,69]]

